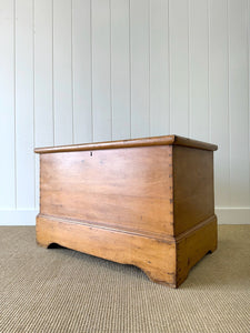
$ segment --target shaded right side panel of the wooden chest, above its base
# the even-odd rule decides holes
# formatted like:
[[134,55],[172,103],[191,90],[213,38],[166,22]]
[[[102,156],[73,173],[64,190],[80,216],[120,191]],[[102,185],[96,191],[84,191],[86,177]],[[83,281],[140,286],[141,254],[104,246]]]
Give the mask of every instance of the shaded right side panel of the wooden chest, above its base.
[[214,215],[213,152],[174,145],[173,189],[176,235]]

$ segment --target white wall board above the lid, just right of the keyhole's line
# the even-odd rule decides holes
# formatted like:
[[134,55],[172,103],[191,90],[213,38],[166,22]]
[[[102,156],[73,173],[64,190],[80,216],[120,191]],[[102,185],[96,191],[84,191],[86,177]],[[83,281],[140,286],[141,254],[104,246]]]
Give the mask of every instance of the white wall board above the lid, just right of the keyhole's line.
[[110,1],[92,0],[93,141],[112,139]]

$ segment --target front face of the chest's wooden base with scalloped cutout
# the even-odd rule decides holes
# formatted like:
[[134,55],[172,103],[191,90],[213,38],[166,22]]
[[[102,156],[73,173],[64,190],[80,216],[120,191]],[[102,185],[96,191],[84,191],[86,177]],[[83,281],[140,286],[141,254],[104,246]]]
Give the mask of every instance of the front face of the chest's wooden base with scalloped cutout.
[[[37,241],[140,268],[152,281],[176,286],[176,244],[84,225],[56,218],[37,218]],[[168,260],[167,260],[168,259]]]

